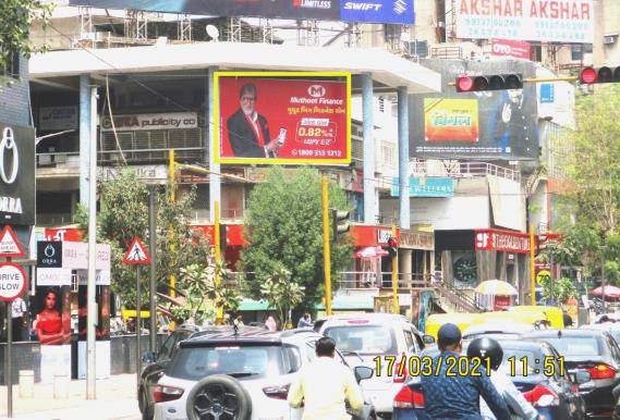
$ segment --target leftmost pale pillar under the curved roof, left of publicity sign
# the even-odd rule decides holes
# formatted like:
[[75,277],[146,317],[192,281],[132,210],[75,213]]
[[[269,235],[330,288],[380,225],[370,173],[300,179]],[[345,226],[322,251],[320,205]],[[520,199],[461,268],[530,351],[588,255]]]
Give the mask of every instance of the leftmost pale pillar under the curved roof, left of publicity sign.
[[90,153],[90,76],[80,75],[80,202],[88,207],[88,162]]

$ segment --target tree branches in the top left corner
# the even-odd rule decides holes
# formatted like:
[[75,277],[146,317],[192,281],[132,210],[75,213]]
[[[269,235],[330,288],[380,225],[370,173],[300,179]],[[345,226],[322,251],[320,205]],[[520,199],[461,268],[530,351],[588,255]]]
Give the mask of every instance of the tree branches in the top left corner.
[[38,20],[45,27],[52,9],[51,3],[40,0],[0,1],[0,70],[9,67],[15,53],[28,59],[34,52],[45,51],[29,39],[31,25]]

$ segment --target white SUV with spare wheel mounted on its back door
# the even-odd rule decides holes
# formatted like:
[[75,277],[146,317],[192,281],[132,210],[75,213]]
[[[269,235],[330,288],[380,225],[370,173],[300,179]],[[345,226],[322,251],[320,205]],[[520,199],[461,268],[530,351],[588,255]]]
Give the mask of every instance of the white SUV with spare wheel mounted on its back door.
[[[320,337],[313,330],[301,329],[227,331],[187,338],[179,344],[155,386],[155,419],[187,419],[196,417],[196,410],[215,411],[215,418],[228,413],[251,420],[301,419],[303,409],[290,408],[288,392],[300,369],[316,357],[315,344]],[[348,366],[342,355],[337,358]],[[362,369],[366,370],[355,370],[358,381],[373,375],[369,369]],[[356,417],[375,418],[372,404],[365,404]]]

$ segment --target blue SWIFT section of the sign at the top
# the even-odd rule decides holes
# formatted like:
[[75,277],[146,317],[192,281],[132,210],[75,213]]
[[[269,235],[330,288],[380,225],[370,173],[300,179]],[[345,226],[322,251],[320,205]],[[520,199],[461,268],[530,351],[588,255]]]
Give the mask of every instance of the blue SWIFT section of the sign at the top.
[[343,22],[413,25],[413,0],[340,0]]

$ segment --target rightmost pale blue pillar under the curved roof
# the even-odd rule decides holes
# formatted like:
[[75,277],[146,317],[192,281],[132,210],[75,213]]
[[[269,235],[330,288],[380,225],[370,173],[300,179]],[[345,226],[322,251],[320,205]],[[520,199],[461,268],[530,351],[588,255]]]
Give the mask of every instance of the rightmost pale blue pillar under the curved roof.
[[399,129],[399,178],[400,178],[400,228],[411,227],[409,198],[409,107],[406,87],[398,88],[398,129]]

